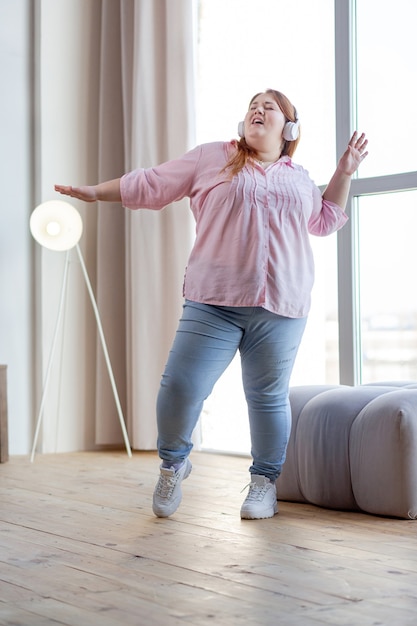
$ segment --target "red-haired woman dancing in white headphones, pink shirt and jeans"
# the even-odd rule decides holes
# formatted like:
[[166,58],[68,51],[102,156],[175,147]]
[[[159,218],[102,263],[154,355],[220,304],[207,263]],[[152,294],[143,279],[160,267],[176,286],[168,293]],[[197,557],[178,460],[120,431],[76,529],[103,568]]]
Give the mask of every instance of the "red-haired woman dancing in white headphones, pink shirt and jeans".
[[86,202],[121,201],[130,209],[162,209],[190,198],[196,239],[183,315],[157,399],[158,517],[172,515],[181,502],[193,429],[237,350],[253,459],[241,518],[278,512],[275,480],[291,426],[289,381],[314,279],[309,234],[328,235],[345,224],[350,179],[367,155],[365,136],[355,132],[322,196],[291,159],[299,125],[282,93],[254,96],[239,127],[239,141],[204,144],[91,187],[55,187]]

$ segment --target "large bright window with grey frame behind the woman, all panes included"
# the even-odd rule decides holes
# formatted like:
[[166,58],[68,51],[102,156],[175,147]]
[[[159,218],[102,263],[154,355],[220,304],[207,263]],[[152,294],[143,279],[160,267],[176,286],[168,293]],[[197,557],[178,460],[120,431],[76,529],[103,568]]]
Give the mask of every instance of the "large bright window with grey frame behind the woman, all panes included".
[[[312,238],[316,283],[291,384],[416,378],[417,3],[198,6],[199,143],[236,137],[251,96],[267,87],[297,106],[295,160],[317,184],[328,182],[354,128],[370,140],[352,180],[348,224],[337,236]],[[237,359],[206,403],[203,447],[248,452],[245,414]]]

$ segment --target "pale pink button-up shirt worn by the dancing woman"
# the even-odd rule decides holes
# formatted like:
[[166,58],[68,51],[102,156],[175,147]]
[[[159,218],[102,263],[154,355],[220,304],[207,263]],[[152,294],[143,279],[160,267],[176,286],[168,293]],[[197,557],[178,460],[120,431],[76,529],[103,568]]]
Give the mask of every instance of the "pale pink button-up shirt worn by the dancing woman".
[[265,170],[248,164],[230,179],[221,170],[234,150],[234,142],[203,144],[134,170],[121,179],[122,203],[162,209],[190,198],[196,239],[184,281],[188,300],[304,317],[314,281],[309,233],[328,235],[347,216],[289,157]]

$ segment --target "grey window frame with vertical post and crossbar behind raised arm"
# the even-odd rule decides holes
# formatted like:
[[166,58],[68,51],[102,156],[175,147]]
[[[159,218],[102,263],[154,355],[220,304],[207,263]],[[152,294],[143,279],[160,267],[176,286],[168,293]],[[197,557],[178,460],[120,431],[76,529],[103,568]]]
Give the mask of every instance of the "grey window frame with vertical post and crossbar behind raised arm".
[[[356,128],[356,0],[335,0],[336,152]],[[417,171],[352,179],[349,222],[338,232],[339,380],[361,382],[358,300],[357,209],[359,196],[417,189]]]

